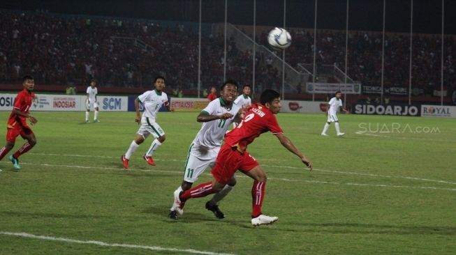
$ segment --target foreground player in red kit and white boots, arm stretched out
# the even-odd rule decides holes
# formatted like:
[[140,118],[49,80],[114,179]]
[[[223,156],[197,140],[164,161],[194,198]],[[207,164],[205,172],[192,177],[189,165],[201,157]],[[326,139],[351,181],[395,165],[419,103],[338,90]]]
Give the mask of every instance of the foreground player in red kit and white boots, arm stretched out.
[[247,152],[247,145],[251,144],[260,134],[270,131],[279,139],[282,146],[297,155],[297,157],[300,157],[300,160],[310,170],[312,170],[313,165],[284,135],[279,123],[277,123],[277,118],[274,114],[278,114],[281,108],[279,93],[267,89],[261,94],[260,102],[260,104],[250,107],[244,118],[242,118],[242,122],[226,134],[225,144],[221,147],[214,168],[212,168],[212,182],[203,183],[198,187],[193,187],[191,190],[186,190],[186,192],[175,192],[173,208],[179,214],[183,213],[184,203],[188,199],[219,192],[233,178],[234,173],[240,170],[254,180],[251,190],[253,207],[251,224],[258,226],[277,221],[278,217],[263,215],[263,212],[261,212],[267,176],[263,167]]

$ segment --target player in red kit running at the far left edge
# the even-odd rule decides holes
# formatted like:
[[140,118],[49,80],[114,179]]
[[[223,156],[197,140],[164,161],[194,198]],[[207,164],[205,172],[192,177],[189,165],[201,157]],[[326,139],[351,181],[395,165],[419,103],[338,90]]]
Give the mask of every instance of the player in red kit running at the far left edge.
[[23,139],[27,140],[19,150],[8,157],[8,159],[13,162],[15,169],[20,169],[19,160],[17,160],[17,158],[20,155],[27,153],[27,151],[36,144],[35,134],[29,125],[27,125],[27,118],[31,125],[38,122],[34,116],[29,114],[31,102],[33,102],[35,98],[35,94],[31,92],[34,90],[35,86],[34,77],[31,77],[30,75],[24,76],[24,78],[22,78],[22,86],[24,86],[24,89],[17,93],[13,111],[11,111],[10,118],[8,118],[6,145],[0,149],[0,160],[2,160],[6,153],[14,147],[16,137],[20,135]]

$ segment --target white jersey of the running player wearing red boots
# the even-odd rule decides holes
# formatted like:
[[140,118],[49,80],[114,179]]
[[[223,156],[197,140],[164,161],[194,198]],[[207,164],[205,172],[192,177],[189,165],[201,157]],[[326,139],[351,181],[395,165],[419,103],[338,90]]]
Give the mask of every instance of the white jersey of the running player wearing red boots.
[[156,113],[161,108],[161,105],[168,105],[168,95],[163,91],[157,92],[155,89],[153,91],[146,91],[142,95],[138,96],[138,100],[144,106],[144,112],[142,113],[142,123],[147,123],[145,120],[147,118],[152,118],[155,120]]

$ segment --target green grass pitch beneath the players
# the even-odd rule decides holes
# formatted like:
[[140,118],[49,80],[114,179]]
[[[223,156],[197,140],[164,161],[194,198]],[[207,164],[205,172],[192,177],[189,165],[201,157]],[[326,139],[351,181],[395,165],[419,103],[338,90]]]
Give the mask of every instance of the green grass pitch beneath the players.
[[[3,142],[8,114],[0,113]],[[279,221],[253,227],[252,180],[242,173],[221,202],[225,219],[205,210],[207,198],[192,199],[179,220],[168,219],[186,151],[200,128],[196,115],[159,113],[167,139],[154,154],[156,167],[142,160],[149,137],[127,172],[119,157],[138,129],[134,113],[101,112],[101,123],[85,124],[83,112],[35,112],[38,144],[20,157],[22,169],[14,171],[7,158],[0,162],[0,254],[456,251],[454,119],[340,115],[346,135],[336,137],[331,125],[330,137],[322,137],[323,114],[279,114],[285,134],[315,169],[309,172],[272,134],[256,139],[249,151],[269,177],[263,212]],[[17,139],[15,149],[22,144]],[[209,180],[207,169],[198,183]]]

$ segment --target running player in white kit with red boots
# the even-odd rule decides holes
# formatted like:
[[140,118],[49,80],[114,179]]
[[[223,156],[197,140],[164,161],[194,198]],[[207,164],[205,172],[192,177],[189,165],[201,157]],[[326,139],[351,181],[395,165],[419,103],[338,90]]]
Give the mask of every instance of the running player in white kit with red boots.
[[[165,78],[158,76],[154,80],[155,89],[153,91],[146,91],[142,95],[138,96],[135,99],[135,109],[136,109],[136,118],[135,121],[140,124],[140,128],[136,134],[135,139],[131,142],[130,147],[126,151],[125,155],[122,155],[121,160],[124,164],[124,168],[128,169],[128,160],[130,160],[131,155],[135,152],[142,142],[149,137],[149,134],[152,134],[155,139],[152,141],[152,145],[149,150],[142,156],[144,160],[147,161],[147,164],[152,166],[155,165],[154,160],[152,159],[152,154],[157,150],[163,141],[165,141],[165,132],[161,129],[160,125],[156,123],[156,113],[161,108],[161,105],[168,107],[168,111],[173,111],[170,108],[168,102],[168,95],[163,92],[165,88]],[[139,111],[139,103],[142,103],[144,107],[144,112],[142,117]]]

